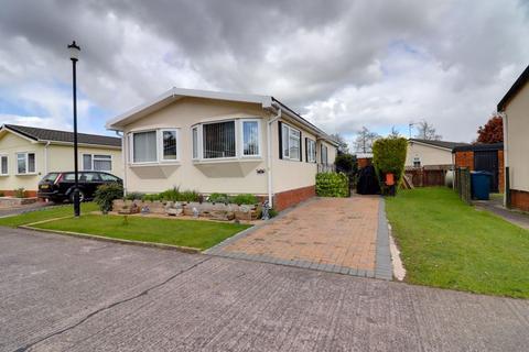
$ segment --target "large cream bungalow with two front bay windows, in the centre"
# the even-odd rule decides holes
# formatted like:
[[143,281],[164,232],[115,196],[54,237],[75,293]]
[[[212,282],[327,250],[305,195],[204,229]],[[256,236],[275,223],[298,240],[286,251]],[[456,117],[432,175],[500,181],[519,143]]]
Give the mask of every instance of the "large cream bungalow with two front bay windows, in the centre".
[[117,117],[126,191],[253,194],[284,209],[315,195],[337,143],[270,96],[173,88]]

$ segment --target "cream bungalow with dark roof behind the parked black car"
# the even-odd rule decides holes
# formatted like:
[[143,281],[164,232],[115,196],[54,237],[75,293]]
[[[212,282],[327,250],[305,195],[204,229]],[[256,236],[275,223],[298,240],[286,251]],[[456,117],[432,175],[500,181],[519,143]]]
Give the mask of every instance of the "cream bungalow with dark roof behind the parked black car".
[[[35,197],[41,178],[74,169],[74,134],[14,124],[0,128],[0,191],[12,196],[24,188]],[[122,177],[121,139],[78,134],[80,170],[105,170]]]

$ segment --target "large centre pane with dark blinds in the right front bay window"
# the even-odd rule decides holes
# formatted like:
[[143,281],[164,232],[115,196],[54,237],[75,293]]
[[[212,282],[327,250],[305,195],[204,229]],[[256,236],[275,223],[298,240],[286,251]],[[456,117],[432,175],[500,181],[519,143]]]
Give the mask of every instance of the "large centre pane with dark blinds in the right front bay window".
[[204,124],[204,158],[235,156],[235,121]]

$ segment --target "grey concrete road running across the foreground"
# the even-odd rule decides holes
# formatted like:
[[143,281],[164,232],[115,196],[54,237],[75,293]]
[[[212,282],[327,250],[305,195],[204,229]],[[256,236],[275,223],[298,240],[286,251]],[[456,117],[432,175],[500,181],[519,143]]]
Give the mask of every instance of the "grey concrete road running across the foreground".
[[0,351],[527,351],[529,300],[0,228]]

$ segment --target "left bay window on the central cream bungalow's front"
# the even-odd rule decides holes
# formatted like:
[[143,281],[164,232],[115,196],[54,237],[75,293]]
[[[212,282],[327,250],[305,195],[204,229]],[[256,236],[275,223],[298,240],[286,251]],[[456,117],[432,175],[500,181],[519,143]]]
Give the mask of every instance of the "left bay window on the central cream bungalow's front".
[[132,132],[129,141],[133,164],[179,161],[177,129]]

